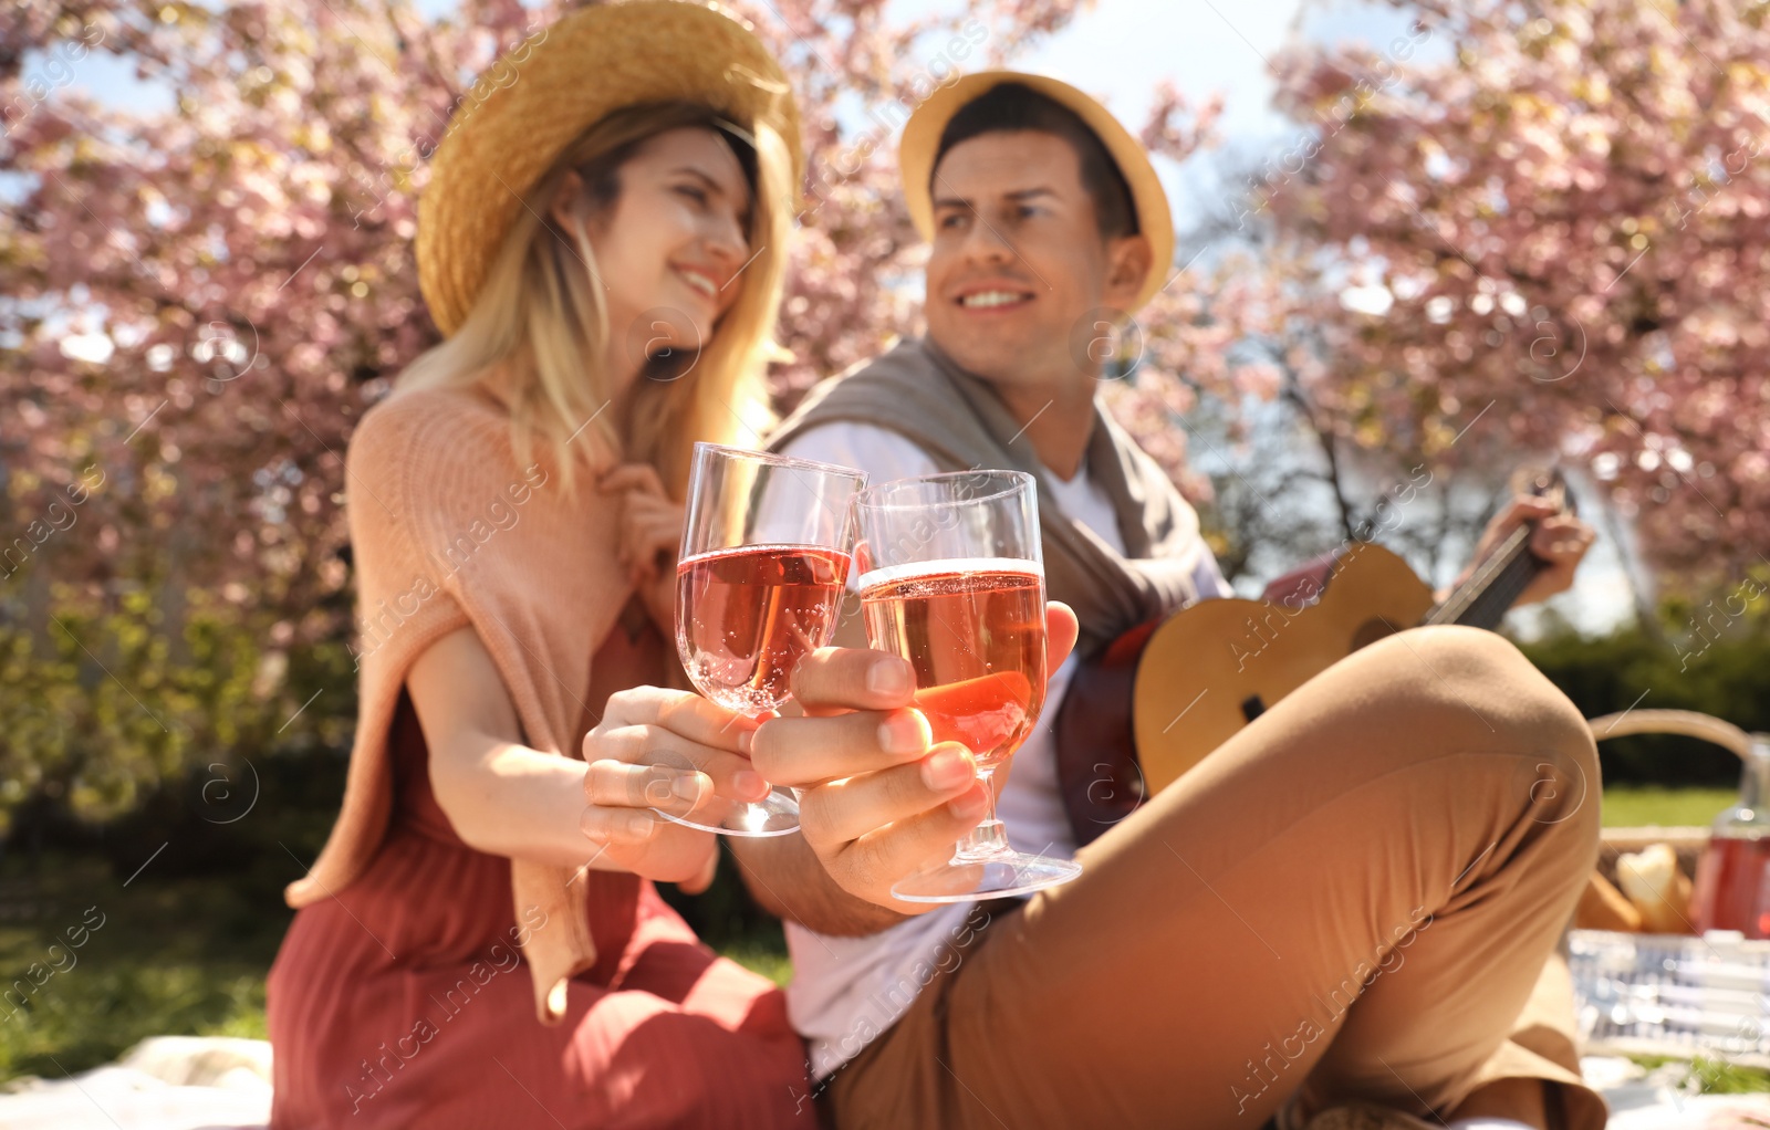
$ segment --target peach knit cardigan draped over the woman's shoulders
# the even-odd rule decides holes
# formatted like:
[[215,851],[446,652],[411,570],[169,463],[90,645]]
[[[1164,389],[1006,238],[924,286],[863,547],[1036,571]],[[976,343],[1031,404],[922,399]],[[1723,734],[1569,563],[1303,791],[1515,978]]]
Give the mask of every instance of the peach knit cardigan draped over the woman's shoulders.
[[[361,695],[343,808],[304,879],[303,907],[350,886],[373,858],[393,808],[388,730],[412,661],[471,626],[503,676],[526,744],[581,757],[602,716],[584,702],[589,661],[627,603],[616,562],[616,508],[588,467],[568,499],[542,444],[519,467],[510,417],[485,391],[402,393],[370,408],[345,458],[347,513],[361,615]],[[586,842],[586,859],[589,858]],[[586,905],[628,874],[512,859],[515,921],[545,921],[524,957],[543,1024],[558,1024],[565,980],[596,962]],[[435,891],[448,898],[448,891]],[[538,918],[536,907],[545,918]]]

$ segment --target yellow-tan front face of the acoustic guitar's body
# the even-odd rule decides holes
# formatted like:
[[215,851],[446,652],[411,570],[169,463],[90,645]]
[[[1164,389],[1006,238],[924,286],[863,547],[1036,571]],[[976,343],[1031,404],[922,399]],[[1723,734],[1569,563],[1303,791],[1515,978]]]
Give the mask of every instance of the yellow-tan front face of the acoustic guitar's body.
[[1418,624],[1432,589],[1389,550],[1356,543],[1267,587],[1276,599],[1207,599],[1149,637],[1133,730],[1149,794],[1262,711],[1359,647]]

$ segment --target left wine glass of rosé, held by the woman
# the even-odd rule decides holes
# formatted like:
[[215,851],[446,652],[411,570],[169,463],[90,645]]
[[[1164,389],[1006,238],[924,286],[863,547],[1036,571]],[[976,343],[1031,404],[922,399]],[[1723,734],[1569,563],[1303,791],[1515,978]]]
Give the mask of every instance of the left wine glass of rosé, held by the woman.
[[[851,467],[696,444],[676,566],[676,651],[694,686],[719,706],[768,714],[791,697],[793,668],[835,635],[853,538]],[[713,796],[658,815],[731,836],[798,828],[798,801]]]

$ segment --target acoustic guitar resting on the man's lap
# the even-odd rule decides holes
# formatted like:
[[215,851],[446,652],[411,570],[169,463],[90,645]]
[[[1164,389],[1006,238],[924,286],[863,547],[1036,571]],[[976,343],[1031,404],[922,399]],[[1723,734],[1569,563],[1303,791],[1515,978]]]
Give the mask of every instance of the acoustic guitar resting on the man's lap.
[[[1575,513],[1559,470],[1528,492]],[[1274,702],[1359,647],[1421,624],[1492,630],[1545,562],[1513,531],[1443,603],[1397,554],[1349,541],[1266,587],[1205,599],[1131,630],[1076,668],[1058,709],[1058,778],[1087,844],[1197,766]],[[1085,796],[1083,796],[1085,790]]]

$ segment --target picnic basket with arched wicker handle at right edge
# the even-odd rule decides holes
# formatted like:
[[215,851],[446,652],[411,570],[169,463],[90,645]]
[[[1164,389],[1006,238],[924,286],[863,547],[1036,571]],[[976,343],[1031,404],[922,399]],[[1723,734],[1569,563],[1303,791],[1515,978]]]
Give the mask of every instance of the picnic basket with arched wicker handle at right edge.
[[[1685,734],[1733,750],[1747,766],[1770,757],[1770,736],[1694,711],[1625,711],[1589,725],[1598,741]],[[1678,868],[1696,875],[1708,835],[1708,828],[1607,828],[1598,870],[1614,882],[1618,856],[1669,844]],[[1770,1068],[1770,941],[1719,930],[1703,937],[1570,930],[1568,969],[1586,1054],[1705,1054]]]

